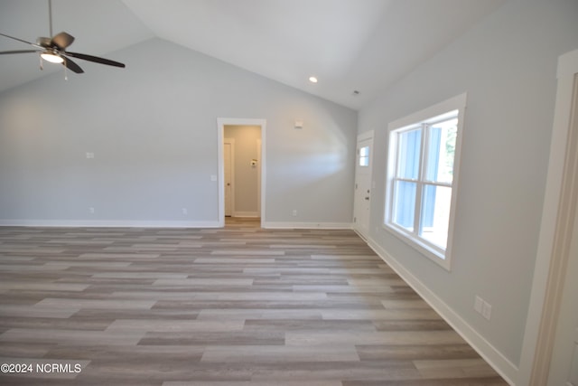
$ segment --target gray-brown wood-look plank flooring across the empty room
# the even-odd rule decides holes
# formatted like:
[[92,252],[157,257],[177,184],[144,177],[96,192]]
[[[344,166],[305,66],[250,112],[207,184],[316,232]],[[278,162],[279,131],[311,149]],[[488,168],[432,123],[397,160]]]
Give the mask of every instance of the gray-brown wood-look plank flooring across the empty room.
[[353,231],[257,221],[0,228],[0,357],[32,365],[2,385],[506,384]]

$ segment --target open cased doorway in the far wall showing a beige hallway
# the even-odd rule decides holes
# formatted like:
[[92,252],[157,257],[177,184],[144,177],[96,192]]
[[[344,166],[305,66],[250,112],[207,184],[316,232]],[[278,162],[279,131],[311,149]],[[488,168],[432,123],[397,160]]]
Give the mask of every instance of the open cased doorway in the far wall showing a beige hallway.
[[225,217],[266,218],[266,120],[218,118],[219,227]]

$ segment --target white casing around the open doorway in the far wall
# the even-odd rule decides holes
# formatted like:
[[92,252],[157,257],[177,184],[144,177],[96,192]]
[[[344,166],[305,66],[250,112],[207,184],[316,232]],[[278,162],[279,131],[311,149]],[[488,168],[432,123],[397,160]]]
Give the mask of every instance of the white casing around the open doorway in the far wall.
[[217,118],[217,156],[219,163],[219,227],[225,226],[225,164],[223,162],[223,141],[226,126],[258,126],[261,127],[261,155],[259,163],[261,175],[261,227],[266,220],[266,119],[252,118]]

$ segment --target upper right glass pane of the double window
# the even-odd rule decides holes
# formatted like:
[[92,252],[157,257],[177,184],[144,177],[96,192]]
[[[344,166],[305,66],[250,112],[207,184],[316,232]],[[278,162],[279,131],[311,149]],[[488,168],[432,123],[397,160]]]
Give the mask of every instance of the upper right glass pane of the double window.
[[425,178],[428,181],[452,184],[457,132],[457,118],[429,127],[429,146],[425,163]]

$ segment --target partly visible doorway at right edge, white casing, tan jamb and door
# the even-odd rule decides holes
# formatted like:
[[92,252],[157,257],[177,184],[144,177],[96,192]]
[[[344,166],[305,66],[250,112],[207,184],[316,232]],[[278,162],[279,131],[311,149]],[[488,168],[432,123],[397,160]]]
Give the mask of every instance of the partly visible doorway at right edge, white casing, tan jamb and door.
[[[555,117],[536,265],[516,381],[520,385],[571,384],[566,381],[572,375],[572,356],[577,355],[574,329],[578,319],[560,320],[562,315],[569,317],[564,311],[566,300],[575,299],[573,291],[576,287],[570,288],[572,286],[566,286],[565,282],[576,281],[578,275],[575,261],[578,259],[575,223],[578,200],[577,75],[578,50],[561,55],[558,58]],[[574,316],[570,317],[578,318],[578,307],[575,301],[571,302],[574,303],[571,310]],[[569,327],[562,327],[564,324]],[[562,332],[561,328],[566,331]],[[560,342],[564,342],[566,348],[559,353]],[[553,378],[558,375],[562,378]]]

